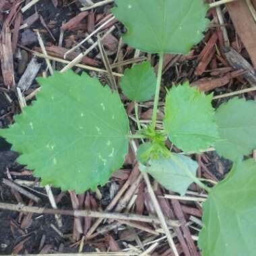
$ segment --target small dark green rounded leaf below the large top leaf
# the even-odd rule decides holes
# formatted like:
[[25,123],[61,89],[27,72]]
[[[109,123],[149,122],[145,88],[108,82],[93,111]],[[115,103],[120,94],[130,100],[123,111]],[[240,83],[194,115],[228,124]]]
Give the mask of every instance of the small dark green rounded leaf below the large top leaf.
[[156,90],[156,75],[150,62],[133,65],[125,69],[120,84],[123,94],[129,100],[143,102],[152,98]]

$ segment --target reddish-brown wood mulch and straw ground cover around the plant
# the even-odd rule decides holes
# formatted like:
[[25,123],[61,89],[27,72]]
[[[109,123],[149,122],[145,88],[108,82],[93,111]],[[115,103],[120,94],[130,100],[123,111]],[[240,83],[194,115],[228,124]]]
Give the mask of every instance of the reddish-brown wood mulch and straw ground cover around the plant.
[[[35,77],[51,75],[54,69],[86,71],[109,85],[118,84],[133,63],[148,59],[157,69],[157,56],[123,44],[125,28],[110,14],[112,6],[109,0],[0,1],[0,128],[34,100]],[[170,88],[189,80],[201,91],[214,92],[214,106],[234,95],[255,99],[255,8],[256,0],[237,0],[210,9],[210,28],[189,55],[165,55],[162,84]],[[100,47],[98,34],[103,37]],[[123,100],[135,127],[134,106]],[[160,108],[160,123],[162,113]],[[143,123],[151,115],[152,102],[139,105]],[[17,154],[0,138],[0,209],[5,209],[0,210],[1,255],[174,255],[132,148],[123,168],[104,187],[81,195],[40,187],[15,158]],[[194,158],[201,178],[218,182],[230,170],[230,162],[214,151]],[[193,184],[186,198],[179,197],[151,181],[179,255],[200,255],[197,239],[206,195]],[[26,211],[7,203],[22,203]],[[75,210],[81,210],[79,216],[74,217]]]

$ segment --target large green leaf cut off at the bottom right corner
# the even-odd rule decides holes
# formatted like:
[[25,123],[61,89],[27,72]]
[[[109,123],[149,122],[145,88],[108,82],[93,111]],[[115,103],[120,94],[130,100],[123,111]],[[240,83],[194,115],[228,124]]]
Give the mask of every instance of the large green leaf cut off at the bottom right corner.
[[255,256],[256,162],[235,164],[203,203],[203,256]]

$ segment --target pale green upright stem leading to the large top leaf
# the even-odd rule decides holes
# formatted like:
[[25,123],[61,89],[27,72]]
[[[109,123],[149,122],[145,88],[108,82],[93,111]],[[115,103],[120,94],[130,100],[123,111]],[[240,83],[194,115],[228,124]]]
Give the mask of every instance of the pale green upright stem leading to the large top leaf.
[[164,61],[164,53],[159,53],[158,76],[157,76],[157,81],[156,81],[156,93],[155,93],[155,98],[154,98],[154,107],[153,107],[153,114],[152,114],[153,129],[156,128],[156,119],[157,119],[157,114],[158,114],[158,101],[159,101],[159,94],[160,94],[160,88],[161,88],[163,61]]

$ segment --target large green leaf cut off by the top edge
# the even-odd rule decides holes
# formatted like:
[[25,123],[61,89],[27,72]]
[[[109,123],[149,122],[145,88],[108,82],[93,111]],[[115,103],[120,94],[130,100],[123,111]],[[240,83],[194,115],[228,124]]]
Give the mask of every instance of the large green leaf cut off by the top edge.
[[115,0],[113,14],[127,27],[123,40],[148,53],[187,54],[209,20],[203,0]]

